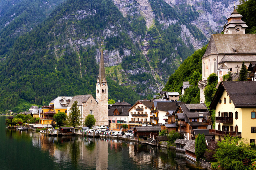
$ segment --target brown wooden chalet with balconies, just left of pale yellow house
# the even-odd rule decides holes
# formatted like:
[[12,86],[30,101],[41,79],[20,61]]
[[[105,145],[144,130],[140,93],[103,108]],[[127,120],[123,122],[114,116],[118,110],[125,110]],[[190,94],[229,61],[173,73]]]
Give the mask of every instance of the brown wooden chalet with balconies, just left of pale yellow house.
[[177,130],[184,139],[194,138],[194,129],[210,129],[210,113],[205,104],[181,104],[175,111]]

